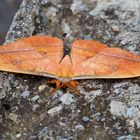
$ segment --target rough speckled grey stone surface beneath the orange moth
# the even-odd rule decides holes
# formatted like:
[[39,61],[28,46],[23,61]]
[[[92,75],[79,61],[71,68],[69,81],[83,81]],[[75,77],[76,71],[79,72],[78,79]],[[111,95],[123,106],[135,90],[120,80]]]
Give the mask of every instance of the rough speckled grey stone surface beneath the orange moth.
[[[140,54],[140,0],[23,0],[6,42],[36,34],[96,39]],[[140,79],[80,80],[50,95],[49,78],[0,73],[0,139],[140,139]],[[64,94],[65,93],[65,94]]]

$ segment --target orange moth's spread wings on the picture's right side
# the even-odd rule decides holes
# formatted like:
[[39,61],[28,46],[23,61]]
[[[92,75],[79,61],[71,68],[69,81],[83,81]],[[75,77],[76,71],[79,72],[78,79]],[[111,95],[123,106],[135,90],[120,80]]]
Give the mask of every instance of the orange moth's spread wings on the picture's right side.
[[131,78],[140,76],[140,56],[110,48],[94,40],[76,40],[72,45],[73,79]]

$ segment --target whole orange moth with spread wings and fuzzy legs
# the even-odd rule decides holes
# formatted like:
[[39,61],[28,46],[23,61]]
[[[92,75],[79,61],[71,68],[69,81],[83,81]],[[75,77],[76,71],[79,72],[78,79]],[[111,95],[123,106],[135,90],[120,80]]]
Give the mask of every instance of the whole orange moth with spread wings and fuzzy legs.
[[140,76],[140,56],[95,40],[75,40],[65,53],[64,42],[51,36],[31,36],[0,47],[0,70],[51,77],[61,87],[79,93],[78,79]]

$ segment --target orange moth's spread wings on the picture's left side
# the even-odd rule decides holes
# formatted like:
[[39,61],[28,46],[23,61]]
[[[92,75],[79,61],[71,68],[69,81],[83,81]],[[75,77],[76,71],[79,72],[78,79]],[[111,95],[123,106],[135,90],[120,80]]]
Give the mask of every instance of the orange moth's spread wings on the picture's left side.
[[23,38],[0,47],[0,70],[55,77],[63,51],[63,41],[55,37]]

